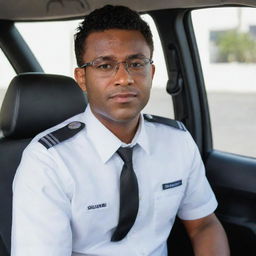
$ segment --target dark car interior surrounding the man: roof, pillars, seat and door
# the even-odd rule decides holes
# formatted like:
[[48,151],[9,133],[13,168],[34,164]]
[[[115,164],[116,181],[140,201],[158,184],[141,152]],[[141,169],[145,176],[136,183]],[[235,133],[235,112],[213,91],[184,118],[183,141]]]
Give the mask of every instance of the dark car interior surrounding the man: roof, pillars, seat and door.
[[[96,8],[116,3],[0,0],[0,49],[16,72],[6,85],[0,110],[0,256],[10,255],[12,181],[24,148],[36,134],[83,112],[87,104],[86,95],[72,77],[44,72],[17,23],[78,20]],[[256,255],[256,156],[223,152],[214,147],[205,79],[191,18],[193,10],[254,9],[256,2],[123,0],[118,4],[148,14],[154,20],[167,67],[168,79],[163,91],[172,100],[169,105],[173,107],[174,118],[185,124],[199,147],[218,200],[216,215],[227,233],[231,255]],[[168,239],[168,255],[194,255],[178,218]]]

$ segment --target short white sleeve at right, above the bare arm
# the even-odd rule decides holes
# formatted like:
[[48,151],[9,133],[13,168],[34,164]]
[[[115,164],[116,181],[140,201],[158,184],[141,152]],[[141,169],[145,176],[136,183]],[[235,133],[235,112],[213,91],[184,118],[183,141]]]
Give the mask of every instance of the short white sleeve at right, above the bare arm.
[[213,213],[217,207],[215,195],[205,176],[205,168],[199,150],[194,140],[188,135],[188,154],[191,161],[188,165],[189,175],[187,186],[178,217],[183,220],[193,220],[203,218]]

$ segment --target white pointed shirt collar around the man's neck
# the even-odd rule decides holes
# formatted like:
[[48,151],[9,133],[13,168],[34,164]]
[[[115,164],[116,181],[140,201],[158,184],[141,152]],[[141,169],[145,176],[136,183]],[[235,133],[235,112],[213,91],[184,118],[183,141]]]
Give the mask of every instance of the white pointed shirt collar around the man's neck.
[[85,110],[86,132],[89,140],[94,145],[100,158],[107,162],[121,146],[134,146],[138,144],[149,154],[148,136],[145,129],[143,115],[140,116],[138,130],[130,144],[125,144],[119,140],[110,130],[108,130],[92,113],[88,105]]

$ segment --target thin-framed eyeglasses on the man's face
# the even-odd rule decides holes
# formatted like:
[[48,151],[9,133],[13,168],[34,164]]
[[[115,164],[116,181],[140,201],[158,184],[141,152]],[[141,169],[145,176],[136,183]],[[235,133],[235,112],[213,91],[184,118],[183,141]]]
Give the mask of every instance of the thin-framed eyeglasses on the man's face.
[[153,60],[146,57],[129,57],[125,61],[118,62],[112,57],[98,57],[91,62],[87,62],[80,68],[92,67],[97,75],[102,77],[113,76],[119,69],[120,64],[124,64],[126,71],[130,75],[145,75],[149,70],[149,64]]

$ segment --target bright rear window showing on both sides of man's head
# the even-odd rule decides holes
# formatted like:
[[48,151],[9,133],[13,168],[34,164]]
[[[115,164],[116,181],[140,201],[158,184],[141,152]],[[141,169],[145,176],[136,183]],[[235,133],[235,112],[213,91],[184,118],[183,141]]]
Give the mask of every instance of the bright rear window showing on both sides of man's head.
[[[153,32],[153,60],[156,65],[151,98],[144,112],[173,118],[172,99],[165,90],[167,70],[161,42],[152,18],[149,15],[142,17],[149,23]],[[17,23],[16,26],[46,73],[73,77],[73,70],[76,67],[73,35],[79,22],[81,20],[26,22]]]

